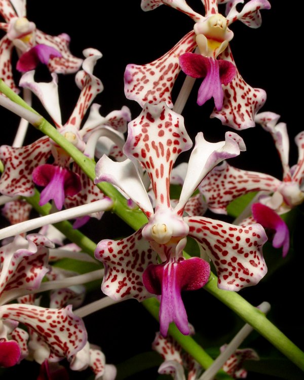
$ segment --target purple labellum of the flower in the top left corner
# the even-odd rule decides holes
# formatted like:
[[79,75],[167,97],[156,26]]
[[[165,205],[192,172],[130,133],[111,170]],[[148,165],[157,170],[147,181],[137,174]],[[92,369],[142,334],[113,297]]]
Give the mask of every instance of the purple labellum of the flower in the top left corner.
[[39,63],[48,64],[50,58],[62,57],[61,53],[51,46],[39,44],[23,53],[16,65],[18,71],[26,72],[35,69]]

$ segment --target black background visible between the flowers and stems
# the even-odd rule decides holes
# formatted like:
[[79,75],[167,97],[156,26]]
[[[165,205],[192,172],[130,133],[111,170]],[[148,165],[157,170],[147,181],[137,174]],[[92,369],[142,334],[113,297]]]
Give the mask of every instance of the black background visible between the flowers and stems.
[[[79,5],[78,5],[79,4]],[[197,12],[203,13],[199,0],[188,1]],[[293,3],[294,4],[294,3]],[[290,165],[296,163],[297,149],[294,136],[302,130],[302,64],[298,56],[301,45],[300,21],[297,20],[298,9],[293,5],[289,10],[286,2],[273,0],[271,10],[263,10],[262,26],[250,29],[241,22],[231,25],[235,36],[231,42],[236,64],[245,81],[252,87],[262,88],[268,98],[262,111],[269,110],[281,115],[280,121],[287,123],[290,135]],[[36,23],[37,28],[49,34],[68,33],[71,36],[70,50],[82,57],[83,49],[93,47],[100,50],[103,57],[97,62],[95,75],[101,79],[104,91],[95,102],[101,104],[101,114],[107,115],[113,109],[123,105],[130,107],[132,119],[141,111],[134,101],[124,96],[123,74],[128,63],[143,64],[155,60],[166,53],[193,27],[193,21],[186,15],[170,7],[161,6],[151,12],[140,9],[140,0],[118,2],[96,2],[86,0],[53,0],[52,2],[28,0],[27,16]],[[16,73],[18,76],[18,73]],[[43,67],[37,69],[41,80],[50,80]],[[180,75],[173,92],[173,100],[182,83]],[[219,141],[229,128],[223,127],[217,119],[210,119],[213,109],[211,101],[200,107],[196,104],[199,83],[184,109],[185,127],[194,139],[198,131],[203,131],[207,140]],[[59,76],[62,119],[65,122],[79,95],[74,84],[74,76]],[[34,108],[43,112],[39,101],[34,100]],[[2,144],[12,144],[13,132],[18,119],[8,111],[1,109]],[[32,128],[32,127],[30,127]],[[257,126],[238,132],[245,140],[247,151],[230,161],[236,167],[262,171],[282,178],[280,160],[270,134]],[[26,143],[40,137],[33,128],[26,137]],[[185,157],[186,159],[186,157]],[[6,221],[2,220],[3,225]],[[302,226],[298,226],[301,229]],[[122,231],[132,233],[115,215],[105,215],[100,223],[84,227],[83,231],[96,243],[103,238],[116,238]],[[302,280],[300,269],[303,265],[301,240],[296,242],[296,251],[286,260],[280,270],[265,278],[254,288],[241,292],[253,305],[263,300],[272,304],[270,318],[292,340],[302,346],[302,316],[299,312],[302,300]],[[276,256],[277,255],[277,256]],[[270,260],[282,261],[281,252],[272,253]],[[288,261],[288,262],[287,262]],[[290,292],[291,291],[291,292]],[[91,294],[88,300],[101,296],[101,292]],[[189,322],[199,331],[198,339],[206,348],[229,341],[234,331],[242,323],[232,315],[229,309],[203,289],[184,295]],[[85,318],[89,340],[102,347],[107,362],[119,364],[141,352],[149,351],[154,334],[158,330],[157,322],[148,315],[135,300],[128,300]],[[259,353],[269,356],[271,352],[280,357],[272,346],[263,338],[253,336],[252,345]],[[252,338],[253,340],[253,338]],[[30,363],[31,364],[31,363]],[[20,368],[12,368],[4,376],[12,375],[18,369],[29,368],[32,378],[39,368],[37,365],[22,363]],[[296,369],[290,379],[297,378]],[[71,378],[86,378],[89,372],[72,373]],[[258,376],[258,377],[257,377]],[[8,378],[8,377],[7,377]],[[155,379],[157,368],[132,376],[133,379]],[[276,378],[263,377],[252,373],[249,379]]]

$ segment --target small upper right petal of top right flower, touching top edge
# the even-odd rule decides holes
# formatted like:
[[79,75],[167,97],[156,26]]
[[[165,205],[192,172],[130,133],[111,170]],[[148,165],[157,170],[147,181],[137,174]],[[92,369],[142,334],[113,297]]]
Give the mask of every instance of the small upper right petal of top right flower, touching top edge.
[[234,2],[231,3],[230,12],[226,16],[228,25],[236,20],[240,20],[250,28],[258,28],[261,25],[262,19],[259,11],[260,9],[271,8],[271,5],[267,0],[251,0],[244,5],[240,12],[238,12],[237,5],[240,3],[243,4],[244,0],[234,0]]

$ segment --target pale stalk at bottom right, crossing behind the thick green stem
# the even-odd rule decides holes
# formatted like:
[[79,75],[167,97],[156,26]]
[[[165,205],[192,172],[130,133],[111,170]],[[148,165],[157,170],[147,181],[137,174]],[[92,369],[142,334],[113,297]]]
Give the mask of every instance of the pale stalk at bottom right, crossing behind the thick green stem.
[[[267,314],[270,311],[270,303],[262,302],[257,307],[261,312]],[[253,331],[253,327],[246,323],[244,327],[237,333],[232,339],[229,345],[227,345],[225,351],[223,351],[213,362],[213,364],[206,369],[206,371],[199,377],[198,380],[212,380],[216,373],[222,368],[224,363],[236,352],[238,347],[242,344],[243,340]]]

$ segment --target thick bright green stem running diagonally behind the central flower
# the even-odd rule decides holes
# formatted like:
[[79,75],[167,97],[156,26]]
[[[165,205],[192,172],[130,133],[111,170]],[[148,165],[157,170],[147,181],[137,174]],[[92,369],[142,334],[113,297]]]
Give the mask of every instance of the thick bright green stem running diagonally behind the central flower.
[[[14,91],[12,91],[8,86],[4,84],[3,81],[0,81],[0,91],[2,91],[6,96],[8,96],[8,98],[15,101],[16,103],[32,110],[32,108],[27,104],[24,104],[23,99],[16,95]],[[81,169],[92,180],[94,179],[95,162],[93,160],[84,156],[81,151],[79,151],[74,145],[68,142],[45,119],[42,118],[39,125],[35,125],[35,127],[52,138],[57,144],[62,146],[62,148],[67,151],[67,153],[81,167]],[[112,207],[112,211],[120,216],[127,224],[133,227],[134,230],[139,229],[144,223],[146,223],[146,216],[139,209],[130,210],[127,207],[126,199],[121,195],[121,193],[116,190],[115,187],[105,182],[98,183],[97,186],[104,194],[113,200],[114,205]],[[43,210],[45,207],[46,206],[43,206],[41,210]],[[46,209],[46,212],[49,212],[50,206],[47,206]],[[57,227],[60,224],[60,231],[63,232],[68,239],[71,239],[71,241],[74,241],[83,249],[85,249],[84,241],[79,236],[80,233],[72,230],[70,223],[66,223],[68,222],[60,222],[55,226]],[[84,238],[84,240],[86,239]],[[91,246],[91,252],[95,249],[95,243],[93,244],[94,248]],[[275,327],[262,313],[256,310],[256,308],[250,305],[250,303],[247,302],[242,296],[235,292],[218,289],[216,276],[213,274],[210,276],[210,280],[205,285],[204,289],[209,291],[211,294],[221,300],[226,306],[236,312],[245,322],[249,323],[255,330],[257,330],[261,335],[268,339],[279,351],[281,351],[286,357],[288,357],[293,363],[295,363],[304,371],[304,353],[300,351],[277,327]],[[176,338],[174,329],[170,331],[172,334],[174,334],[172,336]],[[178,339],[179,337],[177,336],[177,340]],[[195,344],[194,341],[192,344]]]

